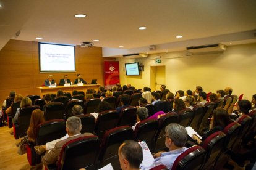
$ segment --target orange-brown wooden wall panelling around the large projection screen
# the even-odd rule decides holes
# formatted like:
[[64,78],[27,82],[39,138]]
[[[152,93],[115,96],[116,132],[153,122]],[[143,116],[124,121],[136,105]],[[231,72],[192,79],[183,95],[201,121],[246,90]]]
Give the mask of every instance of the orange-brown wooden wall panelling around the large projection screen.
[[10,40],[0,51],[0,103],[5,100],[10,91],[17,94],[36,94],[35,87],[41,86],[48,75],[53,75],[57,83],[68,75],[73,81],[77,73],[90,83],[98,79],[103,84],[103,61],[113,60],[103,58],[101,47],[83,48],[75,47],[76,71],[66,73],[40,73],[38,42]]

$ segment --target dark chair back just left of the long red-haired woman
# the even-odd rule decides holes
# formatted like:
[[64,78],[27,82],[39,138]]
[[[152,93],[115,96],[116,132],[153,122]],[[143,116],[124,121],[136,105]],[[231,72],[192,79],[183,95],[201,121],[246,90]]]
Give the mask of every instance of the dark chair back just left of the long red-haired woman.
[[38,106],[28,106],[20,108],[18,115],[19,137],[24,137],[27,134],[27,129],[30,124],[30,118],[33,110],[40,108]]

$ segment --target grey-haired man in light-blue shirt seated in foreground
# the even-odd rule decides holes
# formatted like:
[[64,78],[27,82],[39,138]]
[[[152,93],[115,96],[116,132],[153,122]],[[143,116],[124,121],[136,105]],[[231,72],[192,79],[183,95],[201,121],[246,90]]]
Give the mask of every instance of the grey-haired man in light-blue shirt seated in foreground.
[[171,169],[176,158],[187,150],[184,147],[187,141],[187,131],[183,126],[177,123],[171,123],[165,127],[165,133],[165,145],[169,148],[169,151],[156,153],[153,155],[155,158],[154,163],[147,167],[142,166],[142,169],[150,169],[160,164]]

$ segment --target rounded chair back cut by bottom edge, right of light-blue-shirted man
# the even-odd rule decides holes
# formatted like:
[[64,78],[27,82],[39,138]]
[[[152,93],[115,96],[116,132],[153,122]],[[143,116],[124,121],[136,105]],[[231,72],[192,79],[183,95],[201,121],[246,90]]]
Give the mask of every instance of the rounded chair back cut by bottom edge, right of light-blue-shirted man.
[[205,162],[205,157],[205,150],[200,146],[194,145],[176,158],[171,169],[200,169]]

